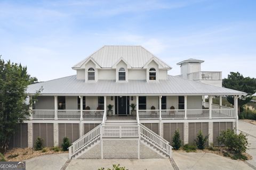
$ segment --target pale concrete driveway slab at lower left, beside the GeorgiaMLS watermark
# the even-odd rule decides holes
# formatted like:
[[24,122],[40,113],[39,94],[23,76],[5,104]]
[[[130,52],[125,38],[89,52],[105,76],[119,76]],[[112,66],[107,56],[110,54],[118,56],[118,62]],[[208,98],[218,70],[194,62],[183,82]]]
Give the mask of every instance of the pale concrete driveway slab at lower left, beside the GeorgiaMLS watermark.
[[26,162],[27,170],[56,170],[61,169],[61,167],[66,163],[67,160],[68,154],[51,154],[37,156],[24,161]]

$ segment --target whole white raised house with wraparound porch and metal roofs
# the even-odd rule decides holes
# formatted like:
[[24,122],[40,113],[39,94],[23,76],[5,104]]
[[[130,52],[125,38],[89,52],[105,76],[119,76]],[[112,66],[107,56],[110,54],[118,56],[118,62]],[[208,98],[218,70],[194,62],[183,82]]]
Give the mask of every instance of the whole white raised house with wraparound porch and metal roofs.
[[[180,78],[141,46],[103,46],[72,67],[76,75],[28,87],[30,97],[43,91],[11,146],[33,147],[38,136],[46,147],[61,146],[68,137],[70,158],[161,158],[171,157],[175,130],[183,144],[193,144],[202,130],[208,145],[218,145],[222,130],[237,127],[237,98],[245,93],[217,87],[221,72],[201,72],[202,62],[178,63]],[[211,80],[217,86],[205,84]],[[212,104],[213,96],[229,95],[234,108]],[[109,104],[113,116],[107,116]]]

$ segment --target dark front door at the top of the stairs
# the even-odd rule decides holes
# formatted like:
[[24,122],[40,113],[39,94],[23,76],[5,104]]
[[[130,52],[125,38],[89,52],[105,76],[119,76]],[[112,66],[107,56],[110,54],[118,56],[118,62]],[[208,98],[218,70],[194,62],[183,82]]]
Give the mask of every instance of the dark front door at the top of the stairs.
[[115,97],[115,111],[118,115],[129,114],[129,96],[116,96]]

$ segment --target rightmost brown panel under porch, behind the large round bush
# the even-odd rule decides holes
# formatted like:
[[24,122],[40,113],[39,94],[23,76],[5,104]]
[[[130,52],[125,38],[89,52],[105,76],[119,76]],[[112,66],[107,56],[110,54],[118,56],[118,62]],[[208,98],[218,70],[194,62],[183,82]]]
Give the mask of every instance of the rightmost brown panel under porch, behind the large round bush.
[[222,131],[233,129],[233,122],[213,122],[213,145],[218,145],[217,137]]

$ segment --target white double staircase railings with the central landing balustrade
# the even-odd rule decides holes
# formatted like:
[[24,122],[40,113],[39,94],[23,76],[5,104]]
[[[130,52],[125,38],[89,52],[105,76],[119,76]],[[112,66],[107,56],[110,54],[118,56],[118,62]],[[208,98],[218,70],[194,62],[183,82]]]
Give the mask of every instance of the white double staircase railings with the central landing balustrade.
[[[111,122],[103,116],[102,124],[72,143],[69,147],[69,159],[78,158],[101,142],[102,138],[135,139],[162,157],[172,157],[172,147],[169,142],[154,133],[139,121]],[[101,154],[103,155],[103,154]]]

